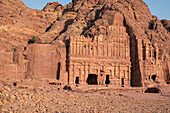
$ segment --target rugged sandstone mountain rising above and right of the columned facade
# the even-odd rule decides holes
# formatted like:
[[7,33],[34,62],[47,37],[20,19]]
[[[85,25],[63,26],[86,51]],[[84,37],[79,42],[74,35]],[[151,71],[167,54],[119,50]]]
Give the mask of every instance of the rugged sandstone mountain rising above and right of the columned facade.
[[[166,70],[162,76],[168,78],[169,36],[162,23],[156,16],[151,15],[142,0],[73,0],[72,4],[68,6],[51,29],[39,36],[42,42],[51,42],[56,39],[69,40],[70,37],[80,35],[89,38],[94,38],[99,34],[105,35],[107,26],[116,25],[116,22],[121,21],[121,16],[114,18],[115,12],[119,12],[123,15],[123,26],[126,27],[131,41],[131,85],[142,86],[145,78],[154,75],[154,71],[156,71],[153,70],[154,66],[150,67],[155,61],[144,60],[143,48],[147,45],[149,45],[148,48],[159,48],[156,54],[159,54],[159,59],[162,59],[162,70],[160,71],[165,72]],[[47,38],[49,34],[51,39]],[[149,49],[149,51],[153,50]],[[158,68],[158,66],[156,67]]]

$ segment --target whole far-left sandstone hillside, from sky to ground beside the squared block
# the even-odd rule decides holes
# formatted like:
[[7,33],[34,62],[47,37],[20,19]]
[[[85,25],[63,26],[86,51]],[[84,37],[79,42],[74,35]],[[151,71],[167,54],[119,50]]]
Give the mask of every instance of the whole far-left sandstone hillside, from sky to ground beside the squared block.
[[23,51],[28,39],[45,32],[58,12],[30,9],[21,0],[1,0],[0,10],[0,75],[22,79],[19,75],[23,76],[27,67]]

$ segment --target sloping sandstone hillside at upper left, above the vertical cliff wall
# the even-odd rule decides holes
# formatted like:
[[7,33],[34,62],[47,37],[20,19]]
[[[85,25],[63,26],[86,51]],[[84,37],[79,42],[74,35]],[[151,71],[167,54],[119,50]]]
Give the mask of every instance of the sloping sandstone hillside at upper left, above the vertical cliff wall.
[[0,45],[4,51],[27,45],[28,39],[42,34],[58,14],[30,9],[21,0],[1,0],[0,6]]

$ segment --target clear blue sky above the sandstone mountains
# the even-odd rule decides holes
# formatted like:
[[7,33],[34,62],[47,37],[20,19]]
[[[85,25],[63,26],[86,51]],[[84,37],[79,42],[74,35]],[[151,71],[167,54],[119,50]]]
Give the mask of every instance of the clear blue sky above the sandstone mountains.
[[[70,3],[72,0],[22,0],[28,7],[42,9],[48,2],[58,1],[62,5]],[[151,10],[152,15],[159,19],[170,20],[170,0],[143,0]]]

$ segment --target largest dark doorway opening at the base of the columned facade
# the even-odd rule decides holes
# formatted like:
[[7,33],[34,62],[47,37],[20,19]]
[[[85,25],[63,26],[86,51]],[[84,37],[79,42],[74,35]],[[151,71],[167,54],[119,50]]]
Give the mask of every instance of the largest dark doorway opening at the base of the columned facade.
[[89,74],[88,78],[87,78],[88,85],[98,85],[97,77],[98,77],[98,75]]

